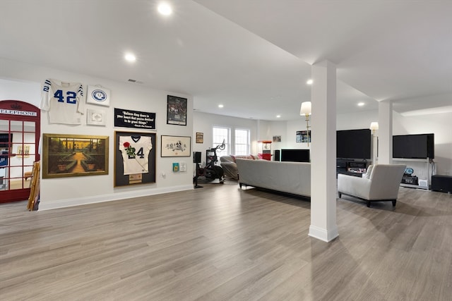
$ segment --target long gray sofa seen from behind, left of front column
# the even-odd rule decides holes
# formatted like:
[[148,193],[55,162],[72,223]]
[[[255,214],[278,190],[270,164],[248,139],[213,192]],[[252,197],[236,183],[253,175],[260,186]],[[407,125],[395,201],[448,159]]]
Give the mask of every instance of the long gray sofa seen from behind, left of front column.
[[239,185],[311,197],[311,164],[236,159]]

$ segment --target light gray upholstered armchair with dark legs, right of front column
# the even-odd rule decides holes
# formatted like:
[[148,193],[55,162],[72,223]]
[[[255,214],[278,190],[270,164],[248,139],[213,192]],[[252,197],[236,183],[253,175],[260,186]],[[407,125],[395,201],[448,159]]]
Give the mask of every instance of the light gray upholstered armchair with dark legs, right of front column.
[[396,206],[398,189],[405,171],[403,164],[376,164],[369,166],[362,178],[338,174],[338,195],[371,202],[391,201]]

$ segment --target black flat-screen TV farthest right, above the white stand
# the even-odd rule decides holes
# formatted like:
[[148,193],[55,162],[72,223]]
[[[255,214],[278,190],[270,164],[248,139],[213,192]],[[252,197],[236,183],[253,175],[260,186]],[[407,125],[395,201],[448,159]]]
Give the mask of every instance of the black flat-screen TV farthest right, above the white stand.
[[434,134],[393,136],[393,158],[434,159]]

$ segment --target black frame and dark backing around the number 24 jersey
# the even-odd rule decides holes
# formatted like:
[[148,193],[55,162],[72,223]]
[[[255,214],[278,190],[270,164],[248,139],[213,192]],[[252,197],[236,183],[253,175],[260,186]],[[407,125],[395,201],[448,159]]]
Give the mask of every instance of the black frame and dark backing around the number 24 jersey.
[[[148,154],[148,173],[133,173],[124,175],[124,157],[119,137],[150,137],[152,148]],[[124,145],[124,139],[121,140]],[[133,146],[133,145],[132,145]],[[136,150],[140,152],[140,150]],[[157,152],[157,134],[143,132],[114,132],[114,187],[155,183],[155,159]]]

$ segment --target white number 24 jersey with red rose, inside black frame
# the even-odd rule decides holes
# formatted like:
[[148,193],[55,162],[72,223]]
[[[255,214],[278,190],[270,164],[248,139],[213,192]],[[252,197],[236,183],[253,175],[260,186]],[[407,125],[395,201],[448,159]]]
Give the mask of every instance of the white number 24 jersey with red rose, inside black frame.
[[148,136],[119,136],[124,175],[148,173],[148,156],[151,149],[153,149],[153,142]]

